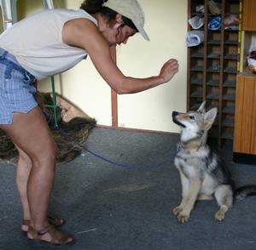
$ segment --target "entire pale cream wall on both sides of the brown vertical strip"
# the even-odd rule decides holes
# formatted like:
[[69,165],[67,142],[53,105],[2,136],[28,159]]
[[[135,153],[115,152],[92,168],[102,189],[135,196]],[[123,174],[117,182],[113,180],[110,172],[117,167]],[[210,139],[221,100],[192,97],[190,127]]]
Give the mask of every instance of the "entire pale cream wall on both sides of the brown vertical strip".
[[[78,9],[79,0],[66,0],[68,9]],[[179,72],[171,82],[139,94],[120,95],[119,126],[178,132],[172,123],[172,111],[186,108],[187,31],[186,0],[139,0],[146,15],[147,42],[139,34],[117,50],[119,68],[126,76],[157,75],[161,65],[170,58],[179,62]],[[90,59],[72,70],[56,76],[56,90],[78,105],[98,124],[111,126],[110,88],[94,69]],[[61,83],[60,83],[61,82]],[[49,89],[49,81],[39,84]]]

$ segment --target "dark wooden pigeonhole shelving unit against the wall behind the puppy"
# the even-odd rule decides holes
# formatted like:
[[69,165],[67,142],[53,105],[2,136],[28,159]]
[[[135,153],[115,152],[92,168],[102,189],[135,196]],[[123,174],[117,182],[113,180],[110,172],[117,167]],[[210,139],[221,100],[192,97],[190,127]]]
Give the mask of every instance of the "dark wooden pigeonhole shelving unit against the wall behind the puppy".
[[[189,19],[195,15],[204,18],[204,42],[188,48],[188,99],[187,109],[195,110],[204,99],[207,109],[218,108],[218,117],[209,136],[218,139],[221,146],[224,139],[233,139],[236,101],[236,74],[240,51],[240,29],[225,29],[225,17],[237,14],[241,18],[240,0],[215,0],[220,14],[212,14],[209,0],[189,0]],[[204,13],[196,12],[196,7],[204,6]],[[220,16],[222,25],[218,30],[210,30],[212,18]],[[193,28],[188,24],[188,31]]]

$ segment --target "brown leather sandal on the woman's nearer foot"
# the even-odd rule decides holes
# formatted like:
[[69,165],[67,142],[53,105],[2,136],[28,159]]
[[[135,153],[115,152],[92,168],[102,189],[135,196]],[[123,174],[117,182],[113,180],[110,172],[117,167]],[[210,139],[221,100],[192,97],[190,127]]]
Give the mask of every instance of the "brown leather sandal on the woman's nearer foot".
[[[48,242],[54,246],[72,245],[75,243],[73,236],[61,230],[56,230],[52,224],[47,225],[43,230],[34,230],[30,225],[27,233],[32,236],[32,238],[28,238],[30,240]],[[42,236],[47,233],[51,237],[51,241],[42,240]],[[69,239],[71,239],[71,241],[68,241]]]

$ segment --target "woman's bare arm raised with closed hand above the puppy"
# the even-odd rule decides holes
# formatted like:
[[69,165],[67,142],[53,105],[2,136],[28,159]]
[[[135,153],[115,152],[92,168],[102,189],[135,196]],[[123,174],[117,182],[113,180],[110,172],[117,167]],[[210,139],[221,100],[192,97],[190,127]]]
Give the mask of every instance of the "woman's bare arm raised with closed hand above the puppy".
[[168,60],[160,74],[154,77],[125,77],[114,64],[109,45],[95,24],[90,20],[68,21],[62,31],[63,42],[70,46],[84,48],[90,59],[108,85],[118,94],[137,93],[168,82],[178,71],[177,60]]

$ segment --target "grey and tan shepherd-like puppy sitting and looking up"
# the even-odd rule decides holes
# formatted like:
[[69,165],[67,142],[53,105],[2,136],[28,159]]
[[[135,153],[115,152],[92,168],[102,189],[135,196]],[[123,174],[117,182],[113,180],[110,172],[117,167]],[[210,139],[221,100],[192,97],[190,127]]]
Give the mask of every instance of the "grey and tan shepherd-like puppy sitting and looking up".
[[228,168],[207,145],[207,132],[217,116],[217,108],[205,111],[204,101],[197,111],[172,112],[172,120],[181,128],[174,163],[180,174],[182,202],[172,212],[181,223],[189,219],[196,200],[215,196],[219,210],[215,219],[223,220],[235,196],[256,195],[256,185],[242,186],[235,193]]

